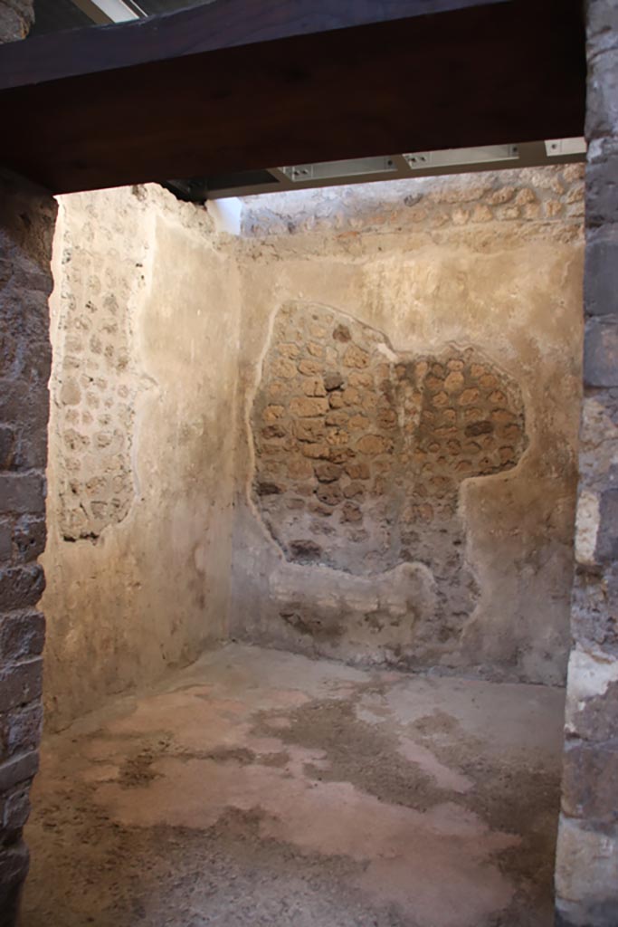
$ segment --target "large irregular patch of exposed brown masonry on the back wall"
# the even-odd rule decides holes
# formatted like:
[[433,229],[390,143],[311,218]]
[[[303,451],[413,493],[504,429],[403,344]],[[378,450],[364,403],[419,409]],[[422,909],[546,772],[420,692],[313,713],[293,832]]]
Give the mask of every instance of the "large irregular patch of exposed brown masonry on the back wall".
[[343,313],[291,303],[251,425],[253,502],[285,560],[314,567],[271,577],[282,620],[316,641],[355,625],[404,664],[457,640],[479,595],[460,485],[525,450],[512,378],[476,349],[411,357]]

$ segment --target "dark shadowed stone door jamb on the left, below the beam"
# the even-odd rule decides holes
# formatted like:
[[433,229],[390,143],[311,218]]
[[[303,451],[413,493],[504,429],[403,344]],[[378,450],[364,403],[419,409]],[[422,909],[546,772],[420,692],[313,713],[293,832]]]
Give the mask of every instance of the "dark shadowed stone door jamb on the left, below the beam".
[[47,298],[56,204],[0,176],[0,924],[16,916],[28,870],[21,829],[42,724]]

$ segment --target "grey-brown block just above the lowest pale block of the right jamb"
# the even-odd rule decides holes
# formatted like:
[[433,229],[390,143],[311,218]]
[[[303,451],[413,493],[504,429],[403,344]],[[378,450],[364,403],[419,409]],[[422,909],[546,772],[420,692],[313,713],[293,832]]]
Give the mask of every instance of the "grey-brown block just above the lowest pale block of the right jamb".
[[562,810],[570,818],[618,822],[618,744],[573,743],[564,755]]

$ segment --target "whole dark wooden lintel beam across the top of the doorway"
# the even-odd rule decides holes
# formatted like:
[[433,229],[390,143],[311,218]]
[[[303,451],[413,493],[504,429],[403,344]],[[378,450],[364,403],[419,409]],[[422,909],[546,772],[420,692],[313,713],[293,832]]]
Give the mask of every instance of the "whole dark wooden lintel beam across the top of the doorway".
[[0,47],[0,159],[57,193],[583,132],[579,0],[220,0]]

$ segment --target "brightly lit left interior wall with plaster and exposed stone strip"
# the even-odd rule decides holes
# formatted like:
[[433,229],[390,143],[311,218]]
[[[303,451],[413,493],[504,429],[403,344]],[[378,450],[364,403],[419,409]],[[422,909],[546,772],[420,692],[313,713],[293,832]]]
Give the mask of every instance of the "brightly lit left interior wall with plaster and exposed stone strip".
[[156,186],[59,197],[45,723],[226,633],[235,261]]

